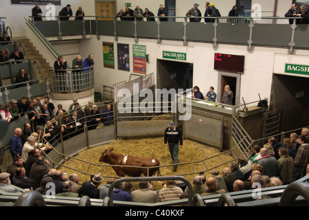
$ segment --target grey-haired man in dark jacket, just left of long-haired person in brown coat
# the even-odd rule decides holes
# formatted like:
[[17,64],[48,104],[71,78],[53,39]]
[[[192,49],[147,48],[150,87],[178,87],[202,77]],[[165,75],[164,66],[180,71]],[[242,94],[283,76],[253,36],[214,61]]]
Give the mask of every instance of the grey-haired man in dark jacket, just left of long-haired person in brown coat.
[[276,177],[279,171],[277,159],[272,155],[269,155],[266,148],[262,148],[260,154],[262,157],[256,163],[264,167],[264,172],[262,173],[262,175],[268,175],[268,177]]

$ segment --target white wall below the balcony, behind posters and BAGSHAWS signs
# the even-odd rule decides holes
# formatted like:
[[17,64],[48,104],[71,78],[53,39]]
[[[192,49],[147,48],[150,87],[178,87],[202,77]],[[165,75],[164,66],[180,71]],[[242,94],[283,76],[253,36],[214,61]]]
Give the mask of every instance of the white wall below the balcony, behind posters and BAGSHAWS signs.
[[[102,91],[102,85],[113,86],[115,83],[124,80],[128,81],[130,74],[133,74],[132,45],[135,44],[133,38],[119,38],[118,41],[118,43],[128,43],[130,45],[130,72],[126,72],[117,69],[117,59],[115,59],[115,69],[103,67],[102,41],[114,42],[114,38],[113,36],[101,36],[100,41],[98,41],[96,36],[93,36],[91,39],[83,40],[80,44],[80,52],[91,51],[94,54],[95,90],[99,92]],[[211,43],[190,42],[187,47],[184,47],[180,41],[163,41],[162,44],[158,44],[156,40],[139,39],[139,45],[146,45],[146,53],[150,54],[150,63],[147,63],[147,74],[155,73],[155,81],[157,80],[157,59],[164,59],[162,58],[163,50],[187,53],[187,61],[185,62],[194,65],[193,85],[198,85],[203,94],[207,93],[210,86],[214,86],[215,91],[217,91],[221,83],[218,79],[219,72],[214,69],[214,53],[245,56],[244,73],[241,74],[240,104],[242,104],[242,97],[246,102],[259,100],[258,94],[260,94],[261,98],[270,100],[275,54],[288,56],[288,49],[273,47],[255,47],[254,52],[250,54],[247,52],[247,46],[241,45],[220,44],[216,51]],[[114,46],[116,51],[117,43]],[[309,51],[295,50],[293,56],[299,54],[306,57],[309,55]],[[117,56],[117,53],[115,53],[115,56]],[[279,74],[283,73],[279,72]]]

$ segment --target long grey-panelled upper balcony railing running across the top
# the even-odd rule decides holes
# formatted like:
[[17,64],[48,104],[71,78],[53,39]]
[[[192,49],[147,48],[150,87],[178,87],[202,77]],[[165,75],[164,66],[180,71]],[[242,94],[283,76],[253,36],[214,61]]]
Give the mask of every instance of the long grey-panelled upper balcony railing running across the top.
[[[247,45],[248,51],[253,52],[254,46],[285,47],[289,52],[294,48],[308,49],[306,36],[309,34],[308,25],[298,24],[301,18],[286,17],[212,17],[214,22],[190,22],[188,17],[168,17],[176,19],[175,22],[159,21],[102,21],[100,19],[111,17],[84,17],[82,21],[32,21],[44,36],[54,36],[62,39],[63,36],[95,34],[98,39],[101,35],[119,36],[139,39],[157,39],[188,42],[213,43],[218,49],[219,43]],[[56,17],[58,19],[58,17]],[[89,20],[86,20],[89,19]],[[293,20],[293,24],[289,21]]]

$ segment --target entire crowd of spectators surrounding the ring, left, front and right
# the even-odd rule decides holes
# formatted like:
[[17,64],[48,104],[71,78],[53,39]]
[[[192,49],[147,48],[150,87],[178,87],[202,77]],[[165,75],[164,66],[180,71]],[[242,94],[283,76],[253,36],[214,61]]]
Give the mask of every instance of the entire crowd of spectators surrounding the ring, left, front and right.
[[[95,129],[100,121],[106,126],[111,125],[113,124],[111,105],[106,106],[104,112],[107,117],[104,118],[102,114],[98,113],[98,106],[91,101],[84,109],[80,109],[78,100],[73,100],[67,110],[62,108],[62,104],[58,104],[58,109],[56,109],[54,104],[49,102],[48,97],[42,104],[39,98],[34,98],[29,102],[25,97],[19,101],[12,100],[11,104],[14,104],[14,108],[19,109],[19,115],[29,115],[30,120],[36,122],[36,129],[32,132],[30,123],[26,123],[23,130],[15,129],[10,140],[13,162],[8,166],[6,172],[0,173],[1,190],[20,192],[14,187],[18,186],[23,188],[24,192],[36,190],[42,195],[62,197],[87,195],[93,199],[104,199],[108,196],[108,190],[115,179],[108,178],[106,184],[102,184],[102,173],[97,173],[89,181],[80,183],[80,178],[76,173],[68,176],[61,170],[49,168],[49,162],[44,159],[41,151],[48,153],[48,151],[52,151],[52,146],[38,144],[37,140],[39,135],[43,135],[46,140],[49,140],[58,132],[70,135],[72,130],[76,131],[80,124],[84,123],[84,121],[76,120],[79,113],[82,113],[80,116],[82,119],[84,119],[84,115],[89,115],[91,118],[87,120],[89,129]],[[41,107],[44,111],[36,112],[36,109],[41,109]],[[41,113],[40,116],[45,120],[40,120],[38,113]],[[62,117],[53,120],[56,115],[62,115]],[[43,130],[43,125],[46,123],[47,128]],[[173,125],[169,124],[169,128]],[[92,126],[93,128],[91,128]],[[168,140],[172,142],[170,138]],[[268,139],[268,143],[263,146],[254,145],[253,155],[249,160],[240,161],[239,165],[232,162],[229,167],[222,169],[221,175],[217,169],[211,170],[210,177],[207,178],[203,173],[196,175],[192,181],[193,195],[198,193],[203,197],[249,190],[257,184],[260,188],[290,184],[309,173],[308,140],[309,129],[305,128],[301,130],[299,135],[290,133],[290,137],[284,138],[283,143],[275,140],[275,137],[271,137]],[[10,185],[11,183],[13,186]],[[50,190],[50,183],[54,184],[54,191]],[[132,185],[129,182],[117,184],[113,190],[113,199],[155,203],[188,197],[188,188],[183,181],[165,181],[162,183],[161,190],[158,191],[152,190],[149,181],[141,181],[138,186],[137,190],[132,190]]]

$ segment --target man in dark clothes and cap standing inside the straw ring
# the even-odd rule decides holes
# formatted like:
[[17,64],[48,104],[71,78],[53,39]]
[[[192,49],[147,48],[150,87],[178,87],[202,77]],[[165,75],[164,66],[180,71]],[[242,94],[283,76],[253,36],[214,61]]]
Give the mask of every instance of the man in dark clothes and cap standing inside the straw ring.
[[[164,144],[170,149],[173,164],[178,164],[179,147],[183,146],[183,136],[174,122],[170,122],[164,133]],[[177,166],[174,166],[174,172]]]

